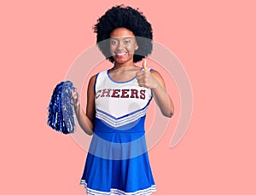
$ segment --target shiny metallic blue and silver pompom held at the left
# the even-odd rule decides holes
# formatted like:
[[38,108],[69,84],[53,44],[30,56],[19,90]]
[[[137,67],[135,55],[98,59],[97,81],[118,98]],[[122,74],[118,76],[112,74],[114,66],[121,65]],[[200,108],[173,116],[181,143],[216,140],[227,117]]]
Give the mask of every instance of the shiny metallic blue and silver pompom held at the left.
[[47,123],[52,129],[63,134],[72,134],[75,131],[72,91],[77,92],[72,82],[58,83],[49,101]]

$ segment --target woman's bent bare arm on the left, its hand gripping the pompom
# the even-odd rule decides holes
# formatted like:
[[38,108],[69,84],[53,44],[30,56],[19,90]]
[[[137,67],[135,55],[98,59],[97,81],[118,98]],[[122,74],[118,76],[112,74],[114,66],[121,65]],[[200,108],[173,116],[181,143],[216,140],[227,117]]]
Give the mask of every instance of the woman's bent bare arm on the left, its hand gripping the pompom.
[[87,135],[93,135],[94,129],[94,120],[95,120],[95,91],[94,85],[96,82],[96,75],[90,77],[90,81],[87,89],[87,105],[86,105],[86,114],[84,110],[79,106],[79,101],[77,95],[73,94],[74,99],[74,110],[76,117],[79,121],[80,127],[84,130]]

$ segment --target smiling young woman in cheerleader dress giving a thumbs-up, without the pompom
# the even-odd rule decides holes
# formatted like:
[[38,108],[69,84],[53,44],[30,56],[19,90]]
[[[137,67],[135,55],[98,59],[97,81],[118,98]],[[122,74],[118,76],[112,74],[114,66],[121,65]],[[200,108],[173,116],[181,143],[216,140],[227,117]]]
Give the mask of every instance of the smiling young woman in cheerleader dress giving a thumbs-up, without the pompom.
[[[88,194],[151,194],[144,121],[152,97],[162,114],[174,107],[160,73],[148,68],[152,28],[137,9],[116,6],[95,26],[97,44],[113,67],[90,78],[86,112],[73,95],[79,125],[90,143],[80,184]],[[143,60],[143,67],[136,66]]]

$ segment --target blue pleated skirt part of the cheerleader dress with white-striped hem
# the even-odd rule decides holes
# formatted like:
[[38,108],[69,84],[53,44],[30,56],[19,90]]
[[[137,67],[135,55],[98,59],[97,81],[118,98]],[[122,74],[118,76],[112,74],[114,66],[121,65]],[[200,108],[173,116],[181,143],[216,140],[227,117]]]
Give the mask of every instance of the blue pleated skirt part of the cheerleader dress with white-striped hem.
[[96,129],[80,184],[89,195],[155,192],[144,130]]

